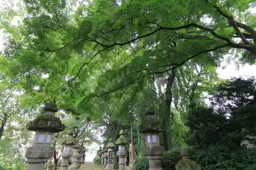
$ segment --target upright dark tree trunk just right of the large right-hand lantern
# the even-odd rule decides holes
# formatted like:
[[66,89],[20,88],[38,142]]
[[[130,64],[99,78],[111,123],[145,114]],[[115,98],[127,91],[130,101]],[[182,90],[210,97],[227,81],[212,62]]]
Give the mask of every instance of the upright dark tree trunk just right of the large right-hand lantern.
[[172,87],[174,84],[176,70],[172,70],[172,75],[169,75],[167,78],[166,90],[165,90],[165,105],[164,105],[164,112],[162,118],[162,125],[163,125],[163,147],[165,151],[168,151],[170,148],[170,126],[171,126],[171,118],[173,119],[173,113],[170,113],[170,105],[172,104]]

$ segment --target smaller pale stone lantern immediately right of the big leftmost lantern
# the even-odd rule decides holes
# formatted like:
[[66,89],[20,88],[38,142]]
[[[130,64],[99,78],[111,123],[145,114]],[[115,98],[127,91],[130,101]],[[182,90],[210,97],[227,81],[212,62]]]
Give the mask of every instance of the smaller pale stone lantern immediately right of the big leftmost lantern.
[[62,142],[63,151],[61,152],[61,168],[60,170],[68,170],[69,159],[72,156],[72,146],[77,144],[77,139],[73,138],[72,131],[68,133],[68,137]]

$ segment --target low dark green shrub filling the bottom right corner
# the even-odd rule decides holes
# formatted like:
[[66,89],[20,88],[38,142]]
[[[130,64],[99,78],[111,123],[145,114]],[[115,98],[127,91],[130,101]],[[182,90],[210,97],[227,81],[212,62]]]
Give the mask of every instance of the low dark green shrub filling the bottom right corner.
[[228,145],[217,144],[194,154],[192,158],[200,163],[202,170],[252,170],[256,167],[255,148],[233,150]]

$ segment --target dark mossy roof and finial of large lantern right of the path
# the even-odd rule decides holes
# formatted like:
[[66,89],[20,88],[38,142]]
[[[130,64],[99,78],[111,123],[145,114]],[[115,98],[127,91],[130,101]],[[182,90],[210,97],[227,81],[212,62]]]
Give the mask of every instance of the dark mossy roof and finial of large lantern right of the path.
[[145,118],[142,120],[142,123],[139,125],[139,131],[141,133],[159,133],[160,123],[155,115],[153,108],[147,108],[145,112]]

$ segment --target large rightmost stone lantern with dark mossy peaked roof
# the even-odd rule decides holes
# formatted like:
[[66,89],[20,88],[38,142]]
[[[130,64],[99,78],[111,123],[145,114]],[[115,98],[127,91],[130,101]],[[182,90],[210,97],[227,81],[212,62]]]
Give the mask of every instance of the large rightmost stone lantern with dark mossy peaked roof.
[[139,130],[144,134],[145,147],[143,147],[143,155],[149,161],[151,170],[161,170],[161,158],[164,152],[163,147],[159,142],[159,122],[155,116],[153,109],[148,108],[146,110],[145,118],[142,120],[142,124],[139,126]]

